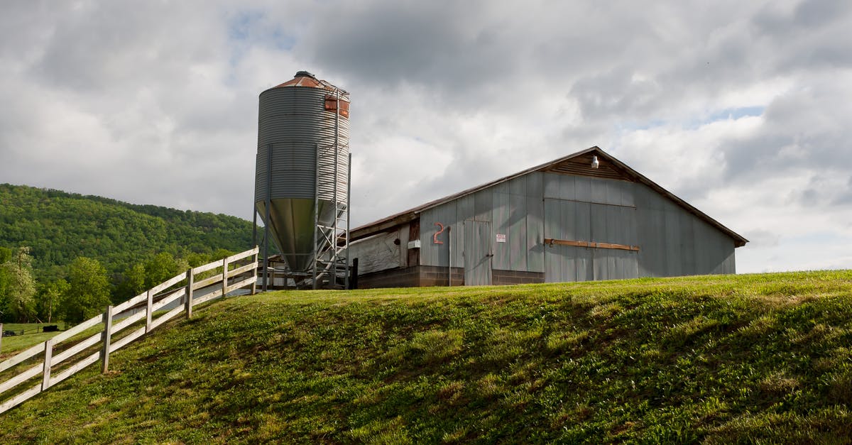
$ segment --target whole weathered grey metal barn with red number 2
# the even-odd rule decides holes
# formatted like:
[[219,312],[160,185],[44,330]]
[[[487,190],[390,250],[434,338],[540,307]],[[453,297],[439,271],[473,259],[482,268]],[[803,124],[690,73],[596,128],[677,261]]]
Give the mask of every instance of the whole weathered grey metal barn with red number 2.
[[350,232],[356,286],[734,274],[746,240],[599,147]]

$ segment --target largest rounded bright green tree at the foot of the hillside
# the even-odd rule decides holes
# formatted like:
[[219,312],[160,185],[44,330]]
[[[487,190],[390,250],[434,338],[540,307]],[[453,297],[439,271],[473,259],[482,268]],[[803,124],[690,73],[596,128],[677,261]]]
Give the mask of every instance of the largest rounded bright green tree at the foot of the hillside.
[[62,298],[65,321],[76,323],[100,314],[110,304],[107,269],[98,260],[77,257],[68,268],[68,288]]

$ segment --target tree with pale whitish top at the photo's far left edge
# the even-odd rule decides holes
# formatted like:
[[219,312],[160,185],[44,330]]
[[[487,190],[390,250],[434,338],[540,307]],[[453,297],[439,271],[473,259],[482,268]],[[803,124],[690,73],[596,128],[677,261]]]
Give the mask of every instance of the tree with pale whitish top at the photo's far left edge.
[[5,281],[4,314],[14,321],[27,322],[36,316],[36,280],[32,278],[29,247],[19,247],[3,263]]

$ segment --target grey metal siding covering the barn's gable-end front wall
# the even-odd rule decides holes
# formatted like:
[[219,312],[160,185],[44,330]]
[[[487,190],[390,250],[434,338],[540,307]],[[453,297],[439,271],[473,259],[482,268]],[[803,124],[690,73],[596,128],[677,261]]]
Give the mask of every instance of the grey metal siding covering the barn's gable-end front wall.
[[[447,264],[446,245],[432,240],[435,222],[452,227],[452,264],[463,265],[465,220],[492,222],[494,269],[544,272],[549,281],[734,273],[734,240],[636,182],[533,172],[423,211],[424,265]],[[544,238],[640,250],[551,247]]]

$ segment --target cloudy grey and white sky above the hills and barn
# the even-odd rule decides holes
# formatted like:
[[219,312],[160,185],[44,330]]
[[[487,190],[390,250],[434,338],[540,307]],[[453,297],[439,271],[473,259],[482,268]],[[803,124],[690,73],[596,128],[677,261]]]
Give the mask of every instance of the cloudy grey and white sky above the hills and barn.
[[[852,269],[852,3],[7,0],[0,182],[251,218],[257,95],[352,95],[353,223],[599,146]],[[2,207],[0,207],[2,211]]]

